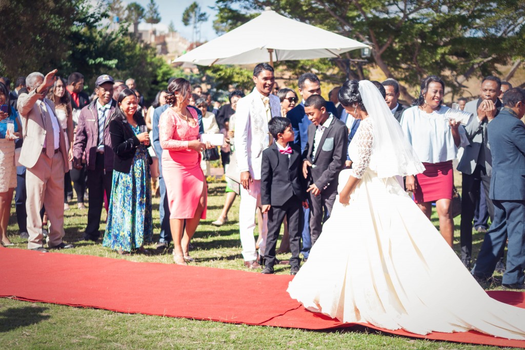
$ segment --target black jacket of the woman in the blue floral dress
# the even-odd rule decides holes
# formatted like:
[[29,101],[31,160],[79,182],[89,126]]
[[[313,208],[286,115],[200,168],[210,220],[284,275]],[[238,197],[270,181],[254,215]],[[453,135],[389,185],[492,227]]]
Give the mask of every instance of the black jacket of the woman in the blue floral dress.
[[[136,121],[137,125],[146,125],[142,117],[139,117]],[[113,119],[109,122],[109,133],[111,136],[111,144],[113,145],[113,152],[115,152],[113,170],[129,173],[131,164],[133,163],[133,157],[135,157],[135,151],[137,151],[137,148],[140,146],[140,141],[137,136],[135,136],[129,123],[120,119]],[[150,164],[152,163],[149,153],[148,162]]]

